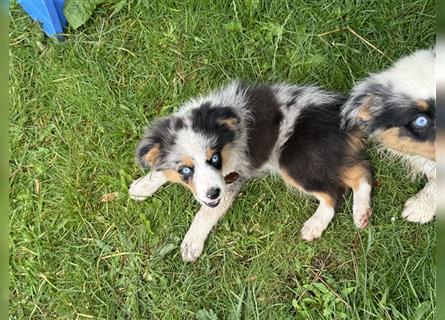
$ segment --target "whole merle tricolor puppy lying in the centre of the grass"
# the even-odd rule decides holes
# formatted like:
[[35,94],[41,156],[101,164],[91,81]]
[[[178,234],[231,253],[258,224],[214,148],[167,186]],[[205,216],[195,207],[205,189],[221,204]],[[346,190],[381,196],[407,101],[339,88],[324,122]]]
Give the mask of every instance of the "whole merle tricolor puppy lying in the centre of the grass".
[[359,131],[340,129],[345,99],[312,86],[238,83],[193,99],[147,130],[136,156],[151,172],[129,193],[143,200],[167,181],[193,192],[202,207],[181,245],[187,261],[200,256],[242,183],[265,171],[319,200],[301,230],[303,239],[322,234],[348,188],[354,222],[363,228],[371,214],[370,172],[359,155]]

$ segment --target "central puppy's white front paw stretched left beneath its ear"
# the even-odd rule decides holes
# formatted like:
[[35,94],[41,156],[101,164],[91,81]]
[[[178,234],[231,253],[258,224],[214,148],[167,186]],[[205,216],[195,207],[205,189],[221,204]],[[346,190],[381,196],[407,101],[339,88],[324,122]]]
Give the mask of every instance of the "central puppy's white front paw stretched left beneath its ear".
[[166,182],[167,179],[162,172],[153,171],[133,181],[128,190],[128,194],[133,200],[142,201],[152,196]]

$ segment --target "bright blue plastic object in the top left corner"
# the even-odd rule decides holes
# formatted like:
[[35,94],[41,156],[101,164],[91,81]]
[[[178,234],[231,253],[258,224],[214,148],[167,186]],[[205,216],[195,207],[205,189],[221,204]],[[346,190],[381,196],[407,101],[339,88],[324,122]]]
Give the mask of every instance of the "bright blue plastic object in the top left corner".
[[63,14],[64,1],[18,0],[18,3],[33,20],[40,22],[48,36],[63,39],[61,33],[67,23]]

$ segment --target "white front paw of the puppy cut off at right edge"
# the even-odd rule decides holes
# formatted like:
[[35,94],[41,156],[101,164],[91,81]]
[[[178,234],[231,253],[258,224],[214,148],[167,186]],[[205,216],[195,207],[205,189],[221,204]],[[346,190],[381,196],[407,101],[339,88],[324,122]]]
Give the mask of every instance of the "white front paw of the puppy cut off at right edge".
[[436,214],[436,180],[427,182],[414,197],[408,199],[402,217],[411,222],[427,223]]

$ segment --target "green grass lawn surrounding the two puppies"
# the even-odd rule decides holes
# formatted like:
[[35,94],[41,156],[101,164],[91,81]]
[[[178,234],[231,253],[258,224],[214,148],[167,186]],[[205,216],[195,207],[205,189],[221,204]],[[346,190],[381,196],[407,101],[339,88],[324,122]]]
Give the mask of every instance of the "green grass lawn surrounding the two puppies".
[[[64,43],[10,16],[12,319],[434,318],[434,225],[400,219],[422,181],[373,149],[370,226],[354,227],[348,197],[313,243],[299,230],[316,202],[271,177],[244,187],[194,264],[178,250],[190,192],[127,196],[156,116],[232,78],[346,92],[434,43],[434,1],[104,4]],[[345,27],[384,55],[346,29],[317,36]]]

